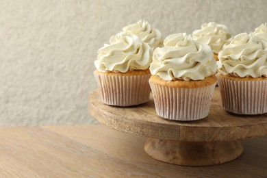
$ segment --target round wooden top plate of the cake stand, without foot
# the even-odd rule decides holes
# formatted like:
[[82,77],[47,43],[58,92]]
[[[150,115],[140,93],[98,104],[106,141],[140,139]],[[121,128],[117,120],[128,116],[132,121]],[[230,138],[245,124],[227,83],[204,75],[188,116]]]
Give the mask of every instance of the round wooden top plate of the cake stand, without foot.
[[267,136],[267,114],[244,116],[226,112],[218,88],[209,115],[201,120],[182,122],[161,118],[155,112],[152,96],[148,103],[134,107],[105,105],[99,89],[88,97],[88,112],[108,127],[149,138],[210,142]]

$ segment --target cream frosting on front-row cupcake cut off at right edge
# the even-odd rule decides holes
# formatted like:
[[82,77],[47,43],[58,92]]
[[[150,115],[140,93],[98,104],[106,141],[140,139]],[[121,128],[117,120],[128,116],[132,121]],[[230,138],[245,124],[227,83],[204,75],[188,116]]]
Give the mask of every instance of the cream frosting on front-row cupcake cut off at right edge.
[[238,34],[218,55],[218,72],[234,77],[267,77],[267,40]]

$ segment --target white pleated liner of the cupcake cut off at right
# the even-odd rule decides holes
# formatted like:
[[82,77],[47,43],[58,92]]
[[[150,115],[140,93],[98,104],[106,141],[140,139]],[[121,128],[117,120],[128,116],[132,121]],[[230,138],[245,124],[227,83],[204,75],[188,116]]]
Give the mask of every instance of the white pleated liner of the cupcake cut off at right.
[[267,112],[267,81],[235,81],[218,77],[223,109],[235,114]]

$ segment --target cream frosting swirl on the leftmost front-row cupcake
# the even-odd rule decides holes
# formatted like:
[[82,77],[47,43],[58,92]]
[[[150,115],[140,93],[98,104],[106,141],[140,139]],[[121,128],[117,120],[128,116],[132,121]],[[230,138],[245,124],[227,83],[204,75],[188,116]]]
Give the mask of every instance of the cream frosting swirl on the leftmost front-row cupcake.
[[116,34],[110,44],[99,49],[94,65],[100,72],[126,73],[146,70],[152,61],[152,49],[136,35]]

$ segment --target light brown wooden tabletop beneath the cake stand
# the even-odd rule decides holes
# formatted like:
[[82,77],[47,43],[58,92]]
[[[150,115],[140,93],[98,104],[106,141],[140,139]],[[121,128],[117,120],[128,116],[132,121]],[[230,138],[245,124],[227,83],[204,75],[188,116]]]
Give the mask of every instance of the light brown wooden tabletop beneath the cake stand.
[[159,162],[146,138],[104,126],[1,127],[1,177],[267,177],[267,138],[242,141],[244,154],[217,166]]

